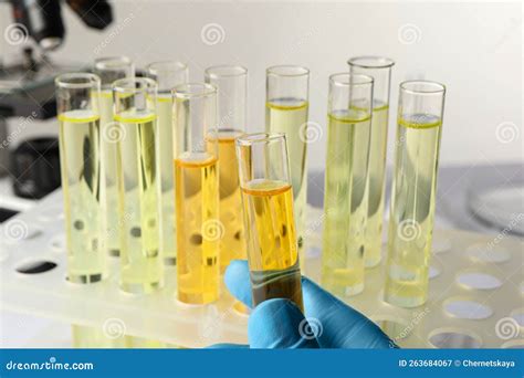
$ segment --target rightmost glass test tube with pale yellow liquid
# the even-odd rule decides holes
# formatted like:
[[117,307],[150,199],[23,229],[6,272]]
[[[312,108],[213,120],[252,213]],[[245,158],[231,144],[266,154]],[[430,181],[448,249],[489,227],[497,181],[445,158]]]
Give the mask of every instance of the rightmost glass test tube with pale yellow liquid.
[[428,297],[444,96],[439,83],[400,84],[385,301],[401,307]]

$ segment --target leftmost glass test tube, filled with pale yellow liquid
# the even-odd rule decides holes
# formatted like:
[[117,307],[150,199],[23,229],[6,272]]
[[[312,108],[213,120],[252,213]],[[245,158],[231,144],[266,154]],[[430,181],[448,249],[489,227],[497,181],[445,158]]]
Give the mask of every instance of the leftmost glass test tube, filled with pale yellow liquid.
[[106,272],[101,245],[101,81],[93,74],[72,73],[56,77],[55,84],[67,280],[92,283]]

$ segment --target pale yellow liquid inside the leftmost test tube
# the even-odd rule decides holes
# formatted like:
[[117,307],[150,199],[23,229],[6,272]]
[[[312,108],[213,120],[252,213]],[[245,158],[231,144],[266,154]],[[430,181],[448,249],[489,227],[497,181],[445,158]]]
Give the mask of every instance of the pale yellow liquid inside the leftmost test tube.
[[97,282],[105,275],[102,248],[99,117],[91,111],[59,114],[67,279]]

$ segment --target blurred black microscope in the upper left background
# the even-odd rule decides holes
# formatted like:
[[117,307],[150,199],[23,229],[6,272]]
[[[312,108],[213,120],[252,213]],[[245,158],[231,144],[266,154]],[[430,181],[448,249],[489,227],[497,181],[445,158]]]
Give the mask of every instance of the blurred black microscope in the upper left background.
[[[8,132],[8,119],[23,117],[30,123],[55,117],[54,78],[64,72],[82,70],[81,65],[57,64],[50,57],[50,53],[63,44],[66,34],[62,7],[66,4],[87,28],[96,30],[104,30],[113,22],[113,11],[106,0],[1,2],[11,9],[12,23],[2,25],[0,43],[19,51],[10,56],[14,57],[10,62],[7,56],[0,56],[0,176],[10,174],[17,196],[41,198],[60,186],[60,171],[50,171],[42,161],[45,159],[39,159],[53,151],[53,159],[57,160],[56,139],[24,140],[12,150],[10,145],[17,130]],[[50,175],[53,176],[51,181]]]

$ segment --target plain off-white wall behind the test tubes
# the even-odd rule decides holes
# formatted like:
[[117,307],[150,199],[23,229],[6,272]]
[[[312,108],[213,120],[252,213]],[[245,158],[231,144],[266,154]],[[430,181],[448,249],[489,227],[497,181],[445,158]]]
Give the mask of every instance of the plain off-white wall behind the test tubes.
[[[398,84],[423,77],[448,87],[442,165],[524,161],[521,2],[113,3],[116,21],[104,32],[85,29],[64,10],[67,40],[53,53],[54,60],[87,63],[96,56],[126,54],[142,66],[177,59],[190,65],[192,81],[201,80],[211,64],[243,64],[251,72],[249,130],[261,129],[264,123],[265,67],[306,65],[312,72],[310,119],[324,128],[323,138],[310,147],[312,168],[324,165],[327,76],[346,71],[347,59],[360,54],[381,54],[397,62],[389,150]],[[4,4],[2,12],[7,13]],[[218,40],[211,34],[202,38],[211,23],[217,24]],[[210,44],[213,41],[218,43]],[[11,51],[4,43],[4,53]],[[54,122],[27,130],[55,132]]]

